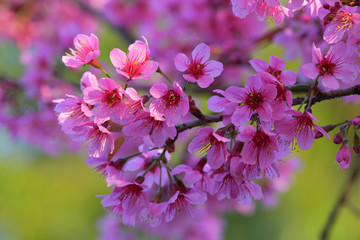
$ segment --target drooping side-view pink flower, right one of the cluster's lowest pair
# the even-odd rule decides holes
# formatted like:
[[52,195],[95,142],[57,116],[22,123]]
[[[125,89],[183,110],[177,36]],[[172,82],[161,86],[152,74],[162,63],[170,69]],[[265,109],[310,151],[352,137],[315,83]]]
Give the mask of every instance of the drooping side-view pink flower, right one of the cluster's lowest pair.
[[194,215],[196,205],[201,205],[207,200],[206,193],[189,190],[176,191],[166,202],[150,203],[149,210],[152,215],[159,217],[165,215],[165,221],[170,222],[180,214]]

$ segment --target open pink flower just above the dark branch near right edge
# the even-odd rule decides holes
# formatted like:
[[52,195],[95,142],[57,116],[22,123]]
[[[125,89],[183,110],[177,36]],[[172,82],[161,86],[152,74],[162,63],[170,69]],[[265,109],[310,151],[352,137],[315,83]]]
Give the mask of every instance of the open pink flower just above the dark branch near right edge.
[[338,80],[350,82],[354,74],[354,68],[343,59],[345,51],[344,43],[338,43],[331,46],[326,55],[322,55],[320,48],[313,44],[312,63],[303,65],[301,70],[308,78],[315,79],[319,76],[319,81],[325,88],[338,89]]

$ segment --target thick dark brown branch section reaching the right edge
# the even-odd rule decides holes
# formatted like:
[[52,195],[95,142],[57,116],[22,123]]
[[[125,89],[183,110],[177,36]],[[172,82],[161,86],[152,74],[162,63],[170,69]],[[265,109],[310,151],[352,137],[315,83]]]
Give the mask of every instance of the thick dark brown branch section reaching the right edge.
[[[330,92],[318,92],[312,99],[311,105],[315,103],[322,102],[325,100],[330,100],[339,97],[345,97],[349,95],[360,95],[360,85],[356,85],[346,89],[334,90]],[[295,97],[293,98],[293,106],[300,105],[304,101],[305,97]]]

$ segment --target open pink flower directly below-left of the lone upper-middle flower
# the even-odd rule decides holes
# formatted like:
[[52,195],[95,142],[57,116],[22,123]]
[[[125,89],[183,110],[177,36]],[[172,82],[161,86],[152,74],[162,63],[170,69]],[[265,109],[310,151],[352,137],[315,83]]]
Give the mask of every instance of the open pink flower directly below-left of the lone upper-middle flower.
[[189,100],[175,81],[173,90],[168,90],[165,83],[157,83],[151,87],[150,94],[155,98],[150,104],[150,112],[163,116],[168,126],[175,126],[189,111]]

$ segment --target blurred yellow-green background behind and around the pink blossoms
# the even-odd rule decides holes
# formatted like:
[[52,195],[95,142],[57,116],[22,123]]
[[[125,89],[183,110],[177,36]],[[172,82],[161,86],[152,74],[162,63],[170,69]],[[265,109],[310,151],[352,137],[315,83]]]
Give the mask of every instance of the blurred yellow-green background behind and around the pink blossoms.
[[[23,2],[5,1],[4,4],[0,4],[0,10],[4,12],[10,5],[14,6],[14,3],[21,5]],[[94,2],[96,1],[93,1],[93,6],[96,6]],[[228,8],[230,11],[231,7],[228,6]],[[1,20],[3,23],[10,23],[6,22],[10,21],[9,19]],[[123,50],[127,48],[126,37],[114,32],[106,21],[98,18],[94,21],[99,21],[96,27],[101,51],[99,59],[109,63],[108,56],[112,48],[118,47]],[[72,32],[72,35],[69,34],[71,35],[69,39],[80,33],[73,25],[67,27]],[[270,27],[262,26],[264,29],[272,27],[271,24]],[[66,27],[64,29],[66,30]],[[79,31],[81,30],[79,28]],[[144,33],[137,36],[145,33],[144,30]],[[0,77],[19,83],[22,81],[19,79],[23,79],[27,66],[24,64],[24,47],[14,39],[4,37],[4,35],[0,38]],[[194,40],[192,47],[198,42]],[[71,41],[67,43],[66,48],[72,47]],[[150,41],[150,49],[152,43]],[[66,48],[60,47],[63,51],[66,51]],[[63,51],[54,57],[56,58],[54,64],[59,67],[58,71],[64,71],[58,77],[76,85],[86,68],[81,69],[80,72],[64,70],[61,63]],[[282,57],[284,54],[284,49],[279,45],[267,43],[249,52],[247,58],[260,58],[267,61],[271,55]],[[166,60],[166,58],[163,59]],[[297,57],[287,63],[288,69],[297,71],[301,60]],[[238,78],[246,74],[248,72],[241,70]],[[239,82],[239,80],[236,81]],[[1,107],[7,108],[4,105]],[[338,99],[316,104],[313,107],[313,114],[320,120],[319,125],[323,126],[352,119],[359,114],[359,107],[359,105],[344,103]],[[17,114],[19,116],[21,112]],[[6,119],[4,120],[4,114],[1,117],[0,239],[96,239],[99,235],[99,218],[105,213],[100,204],[101,199],[96,195],[108,194],[110,189],[106,187],[104,179],[85,164],[86,151],[81,148],[72,151],[68,148],[44,153],[41,141],[36,140],[40,143],[37,146],[30,144],[32,137],[35,139],[39,138],[38,136],[29,134],[24,137],[22,135],[22,131],[31,128],[32,125],[27,125],[27,122],[17,122],[22,126],[16,126],[17,131],[14,134],[12,125]],[[46,131],[44,135],[47,134]],[[56,134],[61,134],[61,132],[58,131]],[[333,135],[334,133],[331,133],[331,136]],[[69,145],[74,145],[67,136],[64,135],[62,138]],[[46,144],[46,141],[50,140],[44,141]],[[257,204],[255,212],[249,216],[228,213],[225,216],[224,239],[318,239],[335,202],[348,181],[352,168],[360,161],[358,156],[353,156],[350,169],[341,170],[335,161],[339,147],[332,141],[322,138],[316,140],[309,151],[295,149],[293,154],[301,159],[302,167],[295,174],[288,191],[279,196],[278,205],[268,209]],[[360,207],[359,183],[356,183],[353,188],[350,199]],[[329,239],[360,239],[359,217],[359,213],[351,211],[346,206],[342,207]]]

